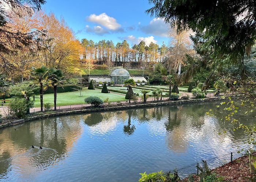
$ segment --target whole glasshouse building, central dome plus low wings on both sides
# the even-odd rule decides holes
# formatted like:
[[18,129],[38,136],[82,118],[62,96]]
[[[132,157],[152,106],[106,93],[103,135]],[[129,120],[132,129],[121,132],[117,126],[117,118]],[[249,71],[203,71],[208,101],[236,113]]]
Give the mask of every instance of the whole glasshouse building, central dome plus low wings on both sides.
[[147,83],[147,79],[143,76],[130,76],[129,72],[125,70],[124,68],[117,68],[114,69],[109,75],[89,75],[89,82],[91,80],[94,80],[96,84],[99,82],[106,82],[109,84],[110,82],[114,82],[114,84],[123,85],[124,81],[127,79],[132,78],[136,83],[138,83],[138,80],[141,83]]

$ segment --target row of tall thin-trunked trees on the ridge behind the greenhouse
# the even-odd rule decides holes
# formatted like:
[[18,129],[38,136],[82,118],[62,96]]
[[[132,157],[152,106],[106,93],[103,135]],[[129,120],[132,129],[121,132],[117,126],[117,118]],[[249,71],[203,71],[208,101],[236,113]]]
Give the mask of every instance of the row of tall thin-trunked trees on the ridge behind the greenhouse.
[[131,48],[126,40],[115,45],[112,40],[94,42],[82,39],[81,45],[84,59],[94,59],[97,64],[106,64],[108,67],[117,66],[120,62],[139,62],[140,66],[146,66],[148,62],[163,62],[168,50],[164,43],[161,47],[153,42],[147,46],[145,41]]

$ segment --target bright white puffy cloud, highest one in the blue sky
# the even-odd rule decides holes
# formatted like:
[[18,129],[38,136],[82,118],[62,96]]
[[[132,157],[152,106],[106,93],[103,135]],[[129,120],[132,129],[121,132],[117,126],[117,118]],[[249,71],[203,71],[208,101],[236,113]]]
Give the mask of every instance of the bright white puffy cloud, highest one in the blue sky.
[[106,13],[101,13],[100,15],[92,14],[87,17],[87,21],[98,23],[109,30],[118,30],[121,25],[117,23],[116,19],[108,16]]

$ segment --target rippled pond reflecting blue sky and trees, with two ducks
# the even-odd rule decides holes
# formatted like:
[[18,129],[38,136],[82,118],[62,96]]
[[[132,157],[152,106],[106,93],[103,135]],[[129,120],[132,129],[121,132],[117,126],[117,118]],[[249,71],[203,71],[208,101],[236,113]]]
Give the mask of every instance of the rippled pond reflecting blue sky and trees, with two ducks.
[[1,129],[0,181],[132,182],[145,171],[168,171],[236,150],[245,134],[218,135],[232,126],[205,114],[215,105],[95,112]]

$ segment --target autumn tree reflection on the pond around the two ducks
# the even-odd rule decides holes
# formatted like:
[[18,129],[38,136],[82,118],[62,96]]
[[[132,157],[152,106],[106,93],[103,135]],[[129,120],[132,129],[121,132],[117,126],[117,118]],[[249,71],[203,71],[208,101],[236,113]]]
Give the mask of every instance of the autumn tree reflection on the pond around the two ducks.
[[[42,119],[28,122],[23,126],[5,128],[0,131],[0,174],[10,165],[19,166],[19,173],[24,177],[40,171],[53,161],[65,159],[65,153],[71,150],[81,133],[81,116]],[[47,129],[46,129],[47,128]],[[8,137],[7,137],[8,136]],[[31,149],[31,145],[35,149]],[[43,149],[39,150],[38,147]]]

